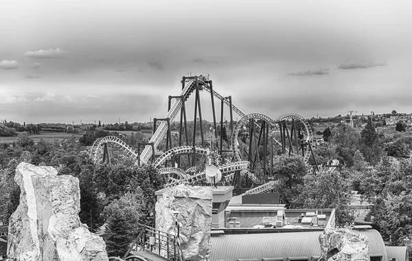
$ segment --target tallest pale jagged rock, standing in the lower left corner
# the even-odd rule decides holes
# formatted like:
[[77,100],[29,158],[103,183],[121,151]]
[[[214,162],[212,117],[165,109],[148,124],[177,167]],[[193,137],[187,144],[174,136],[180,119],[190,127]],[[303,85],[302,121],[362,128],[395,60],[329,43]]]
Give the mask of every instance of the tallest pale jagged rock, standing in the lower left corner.
[[8,258],[25,260],[108,260],[106,244],[80,223],[78,179],[57,176],[52,167],[20,163],[14,180],[20,205],[10,217]]

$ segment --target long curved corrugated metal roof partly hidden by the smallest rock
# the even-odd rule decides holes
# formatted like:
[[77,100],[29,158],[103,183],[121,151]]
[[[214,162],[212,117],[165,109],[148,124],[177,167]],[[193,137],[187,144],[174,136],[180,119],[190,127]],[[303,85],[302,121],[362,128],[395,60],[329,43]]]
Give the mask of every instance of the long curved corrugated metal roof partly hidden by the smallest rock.
[[[365,234],[369,238],[371,255],[382,255],[382,260],[388,260],[385,244],[378,231],[371,229],[353,232]],[[322,233],[323,231],[222,234],[211,237],[210,260],[236,261],[238,259],[297,257],[308,257],[310,260],[312,256],[321,256],[319,235]]]

